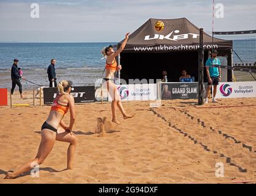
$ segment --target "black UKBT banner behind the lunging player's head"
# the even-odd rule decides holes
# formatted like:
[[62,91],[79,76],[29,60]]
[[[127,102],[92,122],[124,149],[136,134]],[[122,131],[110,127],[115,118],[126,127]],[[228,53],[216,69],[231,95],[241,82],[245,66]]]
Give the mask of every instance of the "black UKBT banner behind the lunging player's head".
[[[44,104],[52,104],[57,97],[57,88],[44,88]],[[70,94],[74,97],[75,104],[94,102],[94,86],[74,86]]]

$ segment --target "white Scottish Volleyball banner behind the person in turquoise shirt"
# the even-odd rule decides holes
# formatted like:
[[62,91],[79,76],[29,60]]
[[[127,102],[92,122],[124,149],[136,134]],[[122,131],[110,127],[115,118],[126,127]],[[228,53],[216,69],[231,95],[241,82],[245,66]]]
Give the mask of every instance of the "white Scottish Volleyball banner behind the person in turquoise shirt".
[[256,81],[220,82],[216,98],[256,97]]

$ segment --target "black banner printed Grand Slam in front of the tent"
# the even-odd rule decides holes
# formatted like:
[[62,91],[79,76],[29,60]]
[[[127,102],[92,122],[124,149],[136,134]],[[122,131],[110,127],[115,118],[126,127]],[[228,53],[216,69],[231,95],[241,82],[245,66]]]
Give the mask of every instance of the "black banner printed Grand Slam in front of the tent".
[[198,99],[198,83],[162,83],[161,99]]

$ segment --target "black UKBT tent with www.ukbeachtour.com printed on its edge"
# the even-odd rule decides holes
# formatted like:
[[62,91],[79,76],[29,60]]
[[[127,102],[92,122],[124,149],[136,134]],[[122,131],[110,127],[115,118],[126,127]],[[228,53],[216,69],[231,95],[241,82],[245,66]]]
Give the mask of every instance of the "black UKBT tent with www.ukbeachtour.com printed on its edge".
[[[164,23],[164,29],[154,28],[156,21]],[[204,33],[204,49],[207,60],[208,51],[218,50],[223,56],[231,56],[232,41],[212,39]],[[118,43],[122,44],[123,40]],[[180,72],[185,69],[198,80],[199,28],[186,18],[150,18],[129,36],[126,47],[121,53],[121,78],[161,79],[163,69],[168,72],[170,81],[178,81]],[[228,58],[231,66],[231,57]],[[228,73],[231,75],[231,73]],[[230,76],[231,77],[231,76]],[[228,77],[228,80],[231,80]]]

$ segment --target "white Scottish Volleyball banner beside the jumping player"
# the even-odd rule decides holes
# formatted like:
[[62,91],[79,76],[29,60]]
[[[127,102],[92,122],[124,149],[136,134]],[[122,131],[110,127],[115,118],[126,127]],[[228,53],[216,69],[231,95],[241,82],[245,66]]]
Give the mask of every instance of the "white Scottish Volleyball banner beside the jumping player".
[[[156,100],[156,84],[137,84],[117,86],[121,100]],[[112,101],[110,94],[108,100]]]

